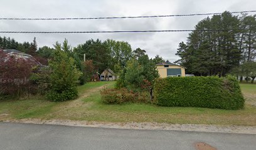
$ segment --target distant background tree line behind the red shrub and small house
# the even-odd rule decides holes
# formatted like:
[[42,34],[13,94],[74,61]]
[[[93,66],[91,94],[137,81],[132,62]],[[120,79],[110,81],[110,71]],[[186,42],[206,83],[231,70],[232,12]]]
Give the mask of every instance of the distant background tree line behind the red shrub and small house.
[[[62,44],[62,45],[61,45]],[[51,59],[51,54],[55,49],[61,49],[68,53],[72,58],[84,61],[84,54],[86,60],[92,60],[95,70],[102,72],[106,68],[112,69],[115,73],[119,73],[125,66],[127,61],[131,59],[139,51],[132,51],[131,44],[125,41],[115,41],[113,39],[107,39],[100,41],[99,39],[90,39],[85,41],[83,44],[72,47],[68,44],[68,40],[65,39],[63,43],[56,42],[52,47],[43,46],[38,47],[36,43],[36,37],[33,42],[19,43],[15,39],[10,37],[0,36],[0,48],[1,49],[17,49],[23,53],[31,54],[34,57],[38,57],[45,65],[47,65],[47,59]],[[140,49],[140,48],[138,48]],[[144,51],[144,50],[143,50]],[[146,53],[146,51],[144,51]],[[154,59],[156,63],[164,61],[160,56],[156,56]]]

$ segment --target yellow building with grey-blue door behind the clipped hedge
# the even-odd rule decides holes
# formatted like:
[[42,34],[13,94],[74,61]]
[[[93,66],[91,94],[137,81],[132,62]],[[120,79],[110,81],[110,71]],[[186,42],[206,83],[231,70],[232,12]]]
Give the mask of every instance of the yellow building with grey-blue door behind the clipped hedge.
[[183,66],[173,63],[159,63],[156,64],[157,71],[160,78],[173,77],[173,76],[185,76],[185,69]]

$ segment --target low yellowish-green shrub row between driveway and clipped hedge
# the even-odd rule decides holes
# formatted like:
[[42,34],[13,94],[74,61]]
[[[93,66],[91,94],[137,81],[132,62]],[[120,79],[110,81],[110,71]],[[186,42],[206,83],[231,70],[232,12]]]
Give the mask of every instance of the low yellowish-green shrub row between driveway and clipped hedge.
[[150,101],[149,93],[134,93],[126,88],[104,89],[100,94],[105,104],[149,103]]

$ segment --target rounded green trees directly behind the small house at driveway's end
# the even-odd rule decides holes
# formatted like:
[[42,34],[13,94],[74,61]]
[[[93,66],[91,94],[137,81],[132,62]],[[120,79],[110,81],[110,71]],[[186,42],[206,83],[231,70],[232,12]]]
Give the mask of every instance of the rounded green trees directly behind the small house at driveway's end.
[[132,58],[131,45],[124,41],[114,41],[107,39],[106,41],[96,41],[90,39],[84,44],[74,47],[74,52],[83,60],[83,54],[86,59],[93,61],[95,71],[101,73],[106,68],[110,68],[114,73],[120,73],[127,61]]

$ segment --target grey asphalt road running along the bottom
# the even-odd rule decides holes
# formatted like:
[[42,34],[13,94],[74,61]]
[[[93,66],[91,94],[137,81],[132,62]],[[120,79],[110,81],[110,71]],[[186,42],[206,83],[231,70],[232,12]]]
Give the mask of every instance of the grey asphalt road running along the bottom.
[[195,149],[203,142],[217,149],[256,149],[256,135],[84,128],[0,123],[0,149]]

